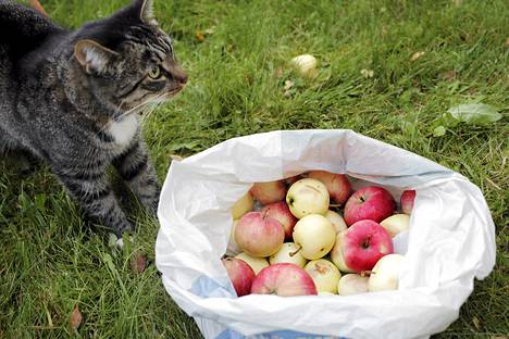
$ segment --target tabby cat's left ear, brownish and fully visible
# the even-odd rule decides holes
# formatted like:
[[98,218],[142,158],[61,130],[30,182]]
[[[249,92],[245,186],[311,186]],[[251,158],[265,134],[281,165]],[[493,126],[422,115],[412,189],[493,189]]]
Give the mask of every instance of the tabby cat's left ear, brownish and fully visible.
[[119,53],[94,40],[84,39],[74,45],[74,58],[87,73],[102,73],[107,63],[115,55]]

